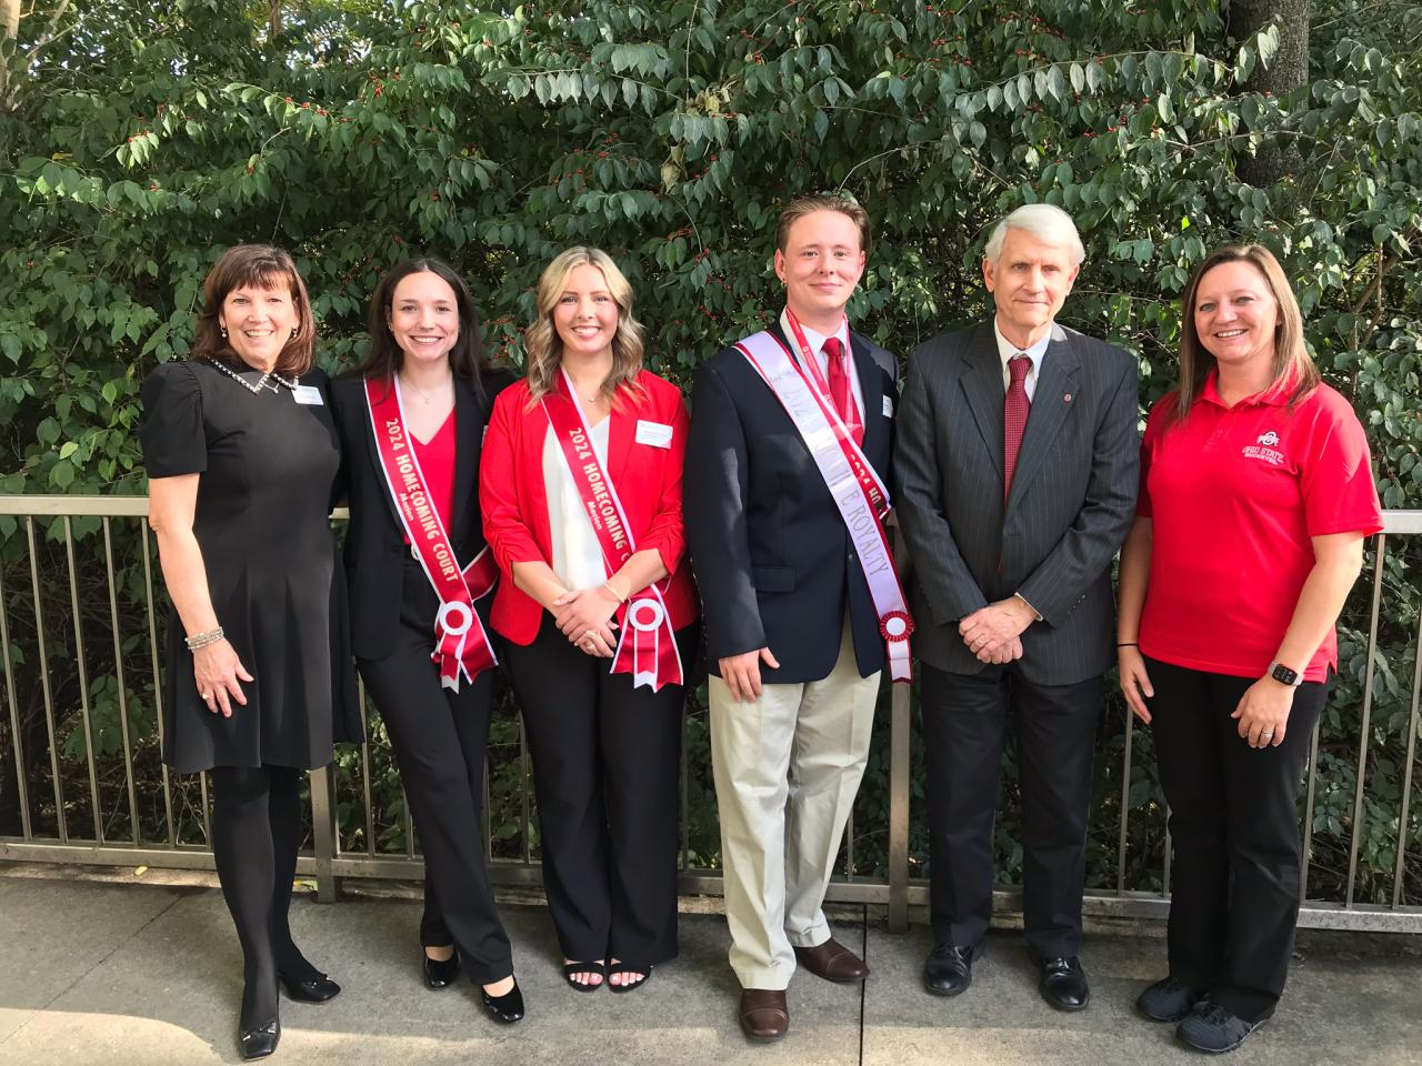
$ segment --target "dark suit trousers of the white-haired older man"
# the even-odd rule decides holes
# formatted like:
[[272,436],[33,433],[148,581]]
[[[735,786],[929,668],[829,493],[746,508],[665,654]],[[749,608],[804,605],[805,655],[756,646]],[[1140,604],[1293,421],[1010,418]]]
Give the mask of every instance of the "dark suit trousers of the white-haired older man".
[[939,944],[975,945],[993,917],[993,822],[1007,716],[1017,722],[1027,942],[1078,954],[1091,760],[1102,681],[1035,685],[1015,664],[953,674],[923,664],[929,903]]

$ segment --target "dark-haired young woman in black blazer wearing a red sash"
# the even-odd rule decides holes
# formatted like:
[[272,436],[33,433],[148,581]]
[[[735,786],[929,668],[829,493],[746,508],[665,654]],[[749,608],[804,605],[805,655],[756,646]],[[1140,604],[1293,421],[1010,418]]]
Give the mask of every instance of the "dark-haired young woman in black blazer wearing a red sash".
[[486,1011],[505,1023],[523,1016],[523,998],[479,837],[492,577],[471,564],[485,553],[476,492],[483,428],[509,381],[486,365],[459,276],[415,259],[381,279],[365,358],[331,387],[351,510],[356,662],[425,853],[425,984],[448,986],[462,959]]

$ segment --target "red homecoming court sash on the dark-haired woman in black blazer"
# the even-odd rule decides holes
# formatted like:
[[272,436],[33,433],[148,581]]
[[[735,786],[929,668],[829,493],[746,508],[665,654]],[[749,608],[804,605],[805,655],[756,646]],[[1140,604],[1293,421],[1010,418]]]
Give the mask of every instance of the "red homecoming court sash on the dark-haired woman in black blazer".
[[411,554],[419,560],[439,597],[431,659],[439,664],[439,684],[458,692],[461,675],[472,682],[481,671],[498,662],[489,634],[479,621],[479,613],[474,610],[474,601],[493,590],[499,567],[485,546],[469,566],[459,569],[449,533],[429,499],[419,459],[405,432],[400,378],[392,377],[388,387],[365,378],[365,404],[370,408],[370,428],[375,435],[381,473],[400,524],[410,539]]

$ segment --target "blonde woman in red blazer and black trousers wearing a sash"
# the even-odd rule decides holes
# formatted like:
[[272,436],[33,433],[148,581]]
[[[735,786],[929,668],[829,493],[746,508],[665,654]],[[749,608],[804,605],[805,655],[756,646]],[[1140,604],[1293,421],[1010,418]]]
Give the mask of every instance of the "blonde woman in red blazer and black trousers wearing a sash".
[[[677,766],[697,607],[681,526],[687,408],[641,368],[627,279],[597,249],[538,284],[528,377],[495,401],[483,532],[493,628],[533,759],[543,885],[580,992],[677,954]],[[684,672],[685,671],[685,672]]]

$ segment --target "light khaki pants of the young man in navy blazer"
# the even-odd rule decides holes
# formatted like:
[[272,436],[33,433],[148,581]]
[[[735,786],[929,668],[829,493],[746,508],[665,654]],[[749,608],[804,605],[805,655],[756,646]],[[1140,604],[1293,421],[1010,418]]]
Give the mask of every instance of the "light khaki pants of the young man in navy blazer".
[[710,696],[731,968],[742,988],[785,989],[792,947],[829,940],[820,905],[869,758],[879,674],[859,677],[846,621],[822,681],[737,704],[712,677]]

